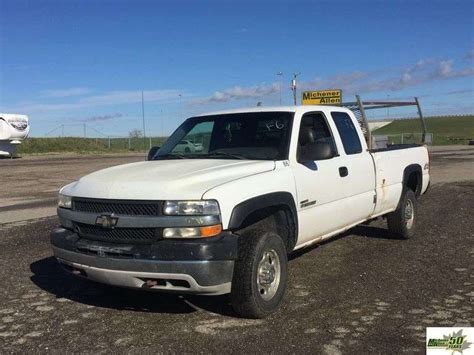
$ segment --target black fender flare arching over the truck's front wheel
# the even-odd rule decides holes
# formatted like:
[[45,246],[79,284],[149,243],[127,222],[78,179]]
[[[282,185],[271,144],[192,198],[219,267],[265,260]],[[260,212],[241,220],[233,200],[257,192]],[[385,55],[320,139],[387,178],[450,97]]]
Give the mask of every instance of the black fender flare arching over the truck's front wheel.
[[268,194],[252,197],[234,207],[230,215],[228,229],[237,229],[250,214],[255,211],[273,206],[285,206],[290,209],[293,225],[295,227],[295,238],[298,238],[298,214],[293,195],[286,191],[271,192]]

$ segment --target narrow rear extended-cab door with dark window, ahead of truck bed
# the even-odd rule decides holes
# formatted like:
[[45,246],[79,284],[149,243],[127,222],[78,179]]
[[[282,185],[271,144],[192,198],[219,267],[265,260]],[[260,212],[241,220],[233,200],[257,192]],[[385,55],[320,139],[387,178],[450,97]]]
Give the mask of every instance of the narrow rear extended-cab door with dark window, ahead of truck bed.
[[332,111],[331,118],[339,133],[336,137],[341,141],[339,145],[342,145],[339,155],[347,174],[342,186],[346,201],[344,219],[348,224],[354,224],[370,218],[374,212],[374,162],[354,115],[345,111]]

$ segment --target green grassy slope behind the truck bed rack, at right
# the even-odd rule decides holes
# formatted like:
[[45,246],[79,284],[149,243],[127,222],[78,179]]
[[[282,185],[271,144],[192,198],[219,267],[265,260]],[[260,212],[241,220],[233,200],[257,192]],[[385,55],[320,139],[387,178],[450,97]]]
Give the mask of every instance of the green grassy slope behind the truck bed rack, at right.
[[[433,145],[467,144],[469,139],[474,139],[473,115],[427,117],[425,122],[427,132],[433,134]],[[372,134],[380,135],[400,135],[401,133],[421,133],[420,120],[396,120],[372,132]]]

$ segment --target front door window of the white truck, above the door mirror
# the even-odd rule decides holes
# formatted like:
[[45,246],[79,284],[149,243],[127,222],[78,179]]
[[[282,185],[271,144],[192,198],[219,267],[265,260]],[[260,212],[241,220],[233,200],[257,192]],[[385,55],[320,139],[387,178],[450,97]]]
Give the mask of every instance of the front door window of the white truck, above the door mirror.
[[300,133],[298,138],[298,151],[307,144],[329,143],[334,155],[337,154],[336,144],[332,137],[331,130],[320,112],[307,113],[301,119]]

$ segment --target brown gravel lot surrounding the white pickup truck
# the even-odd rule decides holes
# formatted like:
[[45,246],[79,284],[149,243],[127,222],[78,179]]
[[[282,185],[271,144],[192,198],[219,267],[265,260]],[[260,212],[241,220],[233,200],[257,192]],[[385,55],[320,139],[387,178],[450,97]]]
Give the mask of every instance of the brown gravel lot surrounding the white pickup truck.
[[[56,217],[0,224],[1,352],[425,353],[427,326],[474,323],[473,157],[432,153],[435,184],[413,239],[393,239],[379,220],[294,255],[283,307],[266,320],[235,318],[227,296],[74,278],[51,256]],[[0,223],[13,211],[52,208],[53,190],[84,173],[141,159],[0,161]]]

